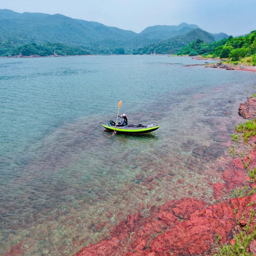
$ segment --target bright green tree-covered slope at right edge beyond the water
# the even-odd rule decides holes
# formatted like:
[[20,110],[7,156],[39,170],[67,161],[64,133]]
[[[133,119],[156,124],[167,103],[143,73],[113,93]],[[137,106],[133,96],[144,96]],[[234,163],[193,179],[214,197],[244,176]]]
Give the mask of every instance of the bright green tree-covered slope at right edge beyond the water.
[[237,61],[246,65],[256,65],[256,30],[244,37],[229,37],[218,42],[207,44],[195,40],[177,52],[177,55],[202,55],[207,58],[229,59],[233,64]]

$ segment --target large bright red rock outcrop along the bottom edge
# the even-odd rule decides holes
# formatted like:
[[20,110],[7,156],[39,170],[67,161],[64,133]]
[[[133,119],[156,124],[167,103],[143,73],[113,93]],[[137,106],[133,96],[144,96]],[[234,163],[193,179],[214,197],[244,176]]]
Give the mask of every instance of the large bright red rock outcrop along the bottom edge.
[[[153,209],[149,217],[139,212],[129,215],[110,239],[84,247],[74,256],[212,255],[217,239],[229,243],[233,231],[241,228],[242,220],[237,219],[243,217],[246,224],[250,211],[256,210],[255,202],[256,194],[209,207],[193,198],[171,200]],[[255,242],[250,246],[253,252]]]

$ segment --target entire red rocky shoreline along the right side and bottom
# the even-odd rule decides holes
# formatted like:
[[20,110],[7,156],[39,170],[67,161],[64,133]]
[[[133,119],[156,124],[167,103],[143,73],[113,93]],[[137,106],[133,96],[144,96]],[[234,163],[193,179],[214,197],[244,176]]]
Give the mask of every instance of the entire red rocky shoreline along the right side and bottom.
[[[240,104],[239,114],[254,119],[255,99]],[[214,255],[219,245],[235,244],[235,234],[256,225],[252,216],[256,212],[256,180],[248,174],[256,168],[256,136],[246,145],[237,145],[240,157],[233,158],[222,173],[223,183],[212,184],[214,198],[220,203],[207,207],[203,200],[186,197],[169,200],[162,207],[152,206],[147,216],[138,211],[114,227],[110,237],[83,247],[74,256]],[[223,199],[235,189],[245,195]],[[256,255],[256,237],[246,250]]]

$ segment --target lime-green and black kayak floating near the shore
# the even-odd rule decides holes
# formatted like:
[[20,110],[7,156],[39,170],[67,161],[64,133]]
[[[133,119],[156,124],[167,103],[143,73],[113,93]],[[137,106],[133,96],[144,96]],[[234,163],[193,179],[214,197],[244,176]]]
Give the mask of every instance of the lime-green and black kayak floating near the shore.
[[114,132],[114,130],[119,134],[146,134],[156,131],[160,125],[143,125],[143,124],[128,124],[126,126],[116,126],[109,125],[107,123],[102,123],[102,126],[108,131]]

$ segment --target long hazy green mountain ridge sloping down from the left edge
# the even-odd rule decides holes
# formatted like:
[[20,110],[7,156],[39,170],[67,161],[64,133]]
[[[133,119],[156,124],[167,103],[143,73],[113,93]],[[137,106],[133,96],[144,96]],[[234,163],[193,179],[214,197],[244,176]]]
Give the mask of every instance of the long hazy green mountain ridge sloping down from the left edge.
[[136,33],[132,31],[72,19],[61,14],[0,10],[1,43],[60,42],[70,46],[106,47],[112,44],[119,47],[135,36]]

